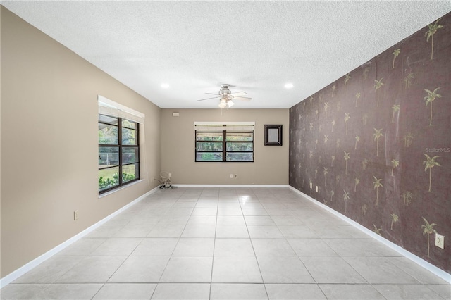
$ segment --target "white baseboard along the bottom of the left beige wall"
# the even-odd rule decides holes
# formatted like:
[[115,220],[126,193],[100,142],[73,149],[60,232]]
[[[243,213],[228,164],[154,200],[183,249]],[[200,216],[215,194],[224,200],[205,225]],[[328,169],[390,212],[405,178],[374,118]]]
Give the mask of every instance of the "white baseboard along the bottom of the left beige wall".
[[12,273],[9,273],[5,277],[1,278],[0,279],[0,289],[4,286],[8,285],[9,283],[13,282],[14,280],[16,280],[18,277],[29,272],[30,270],[32,270],[32,268],[37,267],[37,265],[43,263],[44,261],[47,261],[47,259],[51,258],[51,256],[54,256],[55,254],[57,254],[59,251],[65,249],[70,244],[73,244],[74,242],[77,242],[82,237],[85,237],[85,235],[87,235],[89,232],[92,232],[92,230],[97,229],[97,227],[99,227],[99,226],[103,225],[104,223],[106,223],[107,221],[111,220],[111,218],[115,217],[119,213],[122,213],[123,211],[125,211],[125,209],[129,208],[130,206],[133,206],[134,204],[137,204],[137,202],[139,202],[142,199],[144,199],[145,197],[149,196],[149,194],[152,194],[157,189],[159,189],[159,187],[155,187],[154,189],[151,189],[146,194],[139,196],[137,199],[131,201],[129,204],[123,206],[122,208],[119,208],[114,213],[111,213],[111,215],[108,215],[105,218],[103,218],[102,220],[99,220],[99,222],[95,223],[94,225],[87,227],[85,230],[78,233],[78,235],[74,235],[73,237],[68,239],[66,242],[59,244],[58,246],[54,247],[53,249],[50,249],[49,251],[42,254],[41,256],[33,259],[32,261],[30,261],[30,263],[23,265],[22,267],[18,268],[17,270],[13,271]]

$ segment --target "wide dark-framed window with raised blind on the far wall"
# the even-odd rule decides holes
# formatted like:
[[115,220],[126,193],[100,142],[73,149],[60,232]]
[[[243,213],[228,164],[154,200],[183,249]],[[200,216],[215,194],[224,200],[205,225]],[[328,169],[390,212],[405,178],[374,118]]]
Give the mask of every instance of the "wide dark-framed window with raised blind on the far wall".
[[253,162],[253,127],[196,124],[195,161]]

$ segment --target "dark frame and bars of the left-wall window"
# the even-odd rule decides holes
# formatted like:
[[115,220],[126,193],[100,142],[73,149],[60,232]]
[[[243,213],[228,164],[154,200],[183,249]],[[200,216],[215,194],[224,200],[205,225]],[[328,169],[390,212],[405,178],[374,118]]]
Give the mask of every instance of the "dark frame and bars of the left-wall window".
[[[106,115],[104,113],[99,113],[99,115]],[[138,180],[140,180],[140,173],[141,173],[141,165],[140,165],[140,123],[136,122],[134,120],[129,120],[128,118],[121,118],[121,117],[116,117],[113,115],[106,115],[109,118],[114,118],[116,120],[118,120],[118,124],[117,125],[112,125],[111,123],[106,123],[106,122],[102,122],[101,120],[98,120],[97,122],[99,124],[104,124],[104,125],[112,125],[112,126],[116,126],[117,130],[118,130],[118,142],[117,144],[99,144],[99,148],[109,148],[109,147],[117,147],[118,148],[118,164],[117,165],[111,165],[108,166],[106,168],[100,168],[100,164],[99,164],[99,171],[100,170],[106,170],[106,169],[111,169],[111,168],[118,168],[118,185],[115,185],[113,187],[109,187],[107,189],[99,189],[99,195],[101,194],[105,194],[106,192],[111,192],[114,189],[120,189],[121,187],[125,187],[127,185],[130,185],[132,182],[136,182]],[[128,120],[131,121],[132,123],[136,124],[136,128],[130,128],[130,127],[126,127],[123,126],[122,122],[123,120]],[[135,138],[136,138],[136,144],[132,144],[132,145],[128,145],[128,144],[123,144],[122,141],[122,130],[123,128],[128,129],[128,130],[135,130]],[[126,148],[137,148],[137,161],[134,161],[132,163],[123,163],[123,149]],[[99,153],[99,158],[100,158],[100,151],[98,150]],[[126,182],[123,182],[123,167],[126,167],[128,165],[137,165],[138,167],[138,171],[137,171],[137,176],[135,176],[135,178],[133,178],[132,180],[128,180]],[[99,176],[97,176],[99,178]]]

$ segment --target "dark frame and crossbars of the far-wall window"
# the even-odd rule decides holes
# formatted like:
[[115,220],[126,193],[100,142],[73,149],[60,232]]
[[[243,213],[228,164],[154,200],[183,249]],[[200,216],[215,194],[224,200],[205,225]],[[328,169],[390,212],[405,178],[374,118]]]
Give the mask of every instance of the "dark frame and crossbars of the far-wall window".
[[[197,139],[197,133],[222,133],[222,141],[202,141]],[[228,141],[227,135],[233,133],[250,133],[252,134],[252,141]],[[252,151],[227,151],[228,143],[251,143],[252,142]],[[216,143],[222,144],[222,151],[198,151],[197,143]],[[197,159],[198,153],[221,153],[222,160],[221,161],[199,161]],[[228,161],[227,154],[228,153],[252,153],[252,161]],[[246,131],[231,131],[231,130],[222,130],[222,131],[210,131],[210,130],[195,130],[194,131],[194,161],[196,163],[253,163],[254,162],[254,130],[246,130]]]

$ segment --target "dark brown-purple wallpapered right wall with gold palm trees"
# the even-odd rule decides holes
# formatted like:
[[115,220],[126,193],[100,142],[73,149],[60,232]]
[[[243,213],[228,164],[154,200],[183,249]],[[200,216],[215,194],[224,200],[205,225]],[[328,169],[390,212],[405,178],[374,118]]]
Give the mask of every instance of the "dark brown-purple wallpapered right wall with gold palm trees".
[[451,13],[290,108],[290,185],[451,273]]

